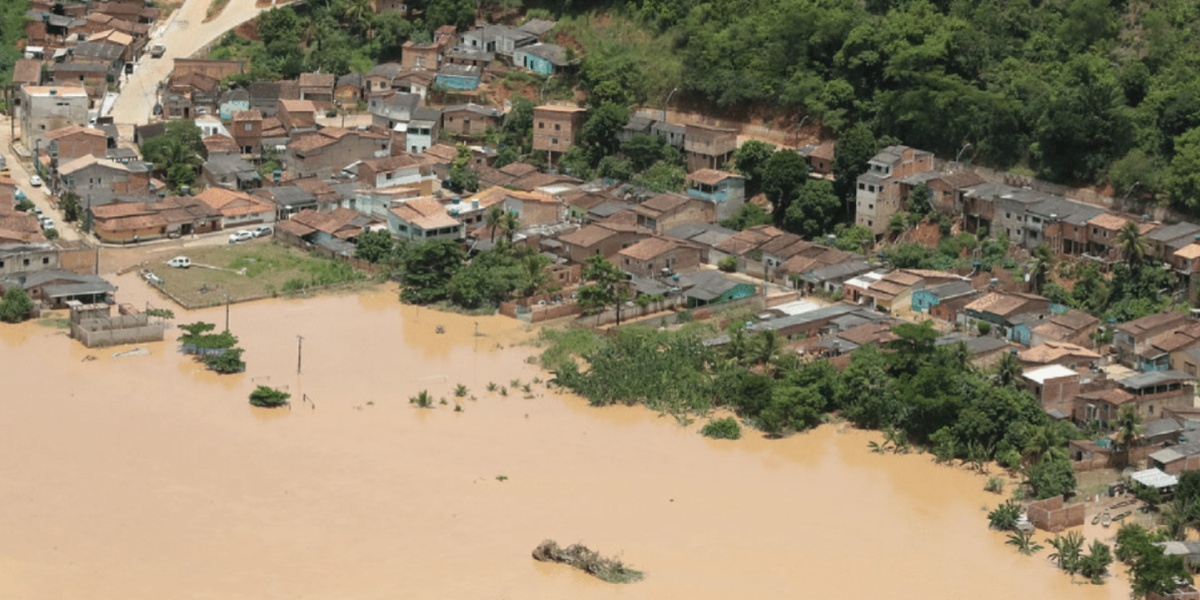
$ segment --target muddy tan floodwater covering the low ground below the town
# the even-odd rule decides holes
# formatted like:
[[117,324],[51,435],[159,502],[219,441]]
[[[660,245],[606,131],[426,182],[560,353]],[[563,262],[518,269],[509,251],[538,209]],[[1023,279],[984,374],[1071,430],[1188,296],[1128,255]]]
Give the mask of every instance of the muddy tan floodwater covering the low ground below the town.
[[[224,308],[178,317],[223,324]],[[509,319],[382,289],[234,306],[230,326],[248,371],[218,377],[169,341],[114,358],[130,348],[0,325],[0,598],[1128,596],[1072,583],[1049,551],[1019,556],[986,529],[1000,497],[983,478],[871,454],[871,433],[714,442],[542,385],[487,392],[544,376]],[[250,407],[257,383],[292,409]],[[478,400],[455,413],[460,383]],[[448,406],[410,407],[422,389]],[[535,563],[547,538],[646,580]]]

